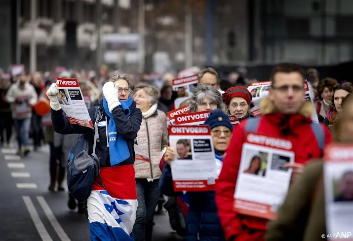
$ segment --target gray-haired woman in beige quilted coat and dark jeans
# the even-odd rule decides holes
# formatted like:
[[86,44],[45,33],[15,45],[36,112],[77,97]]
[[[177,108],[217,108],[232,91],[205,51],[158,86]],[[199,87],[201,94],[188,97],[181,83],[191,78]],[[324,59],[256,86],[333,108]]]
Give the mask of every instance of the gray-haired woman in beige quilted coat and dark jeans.
[[149,161],[136,160],[134,164],[138,207],[133,230],[135,241],[151,241],[153,218],[159,200],[158,183],[162,174],[159,161],[163,148],[168,145],[168,128],[165,113],[157,110],[158,89],[155,86],[138,84],[134,100],[143,116],[137,144]]

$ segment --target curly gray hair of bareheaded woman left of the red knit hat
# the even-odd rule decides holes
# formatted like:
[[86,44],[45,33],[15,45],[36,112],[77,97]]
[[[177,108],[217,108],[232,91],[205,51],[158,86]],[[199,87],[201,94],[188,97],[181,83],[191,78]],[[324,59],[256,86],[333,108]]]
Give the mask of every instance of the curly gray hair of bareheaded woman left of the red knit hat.
[[222,101],[221,93],[208,85],[200,85],[194,88],[193,95],[189,100],[190,112],[196,112],[197,104],[200,104],[205,97],[217,103],[217,109],[221,109],[227,113],[227,106]]

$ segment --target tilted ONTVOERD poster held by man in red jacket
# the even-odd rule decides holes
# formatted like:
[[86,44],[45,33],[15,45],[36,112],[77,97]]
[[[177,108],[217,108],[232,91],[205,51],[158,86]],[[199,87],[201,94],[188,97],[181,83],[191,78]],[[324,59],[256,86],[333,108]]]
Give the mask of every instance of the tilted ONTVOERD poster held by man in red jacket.
[[275,219],[287,194],[294,162],[292,142],[247,134],[235,186],[234,207],[238,213]]

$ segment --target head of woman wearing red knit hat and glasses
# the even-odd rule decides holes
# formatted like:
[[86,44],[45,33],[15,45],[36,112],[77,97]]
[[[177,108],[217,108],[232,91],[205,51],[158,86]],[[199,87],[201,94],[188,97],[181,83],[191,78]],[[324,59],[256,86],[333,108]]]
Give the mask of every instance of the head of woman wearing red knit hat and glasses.
[[250,114],[251,93],[242,86],[231,87],[222,95],[223,102],[228,107],[228,114],[235,115],[239,121],[248,117]]

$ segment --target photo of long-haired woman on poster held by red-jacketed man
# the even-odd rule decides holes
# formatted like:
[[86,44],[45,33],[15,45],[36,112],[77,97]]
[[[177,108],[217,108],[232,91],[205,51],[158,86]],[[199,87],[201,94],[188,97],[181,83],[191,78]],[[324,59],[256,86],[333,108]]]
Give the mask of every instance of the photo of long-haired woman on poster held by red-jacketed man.
[[266,176],[269,153],[256,151],[254,149],[246,149],[245,152],[248,160],[242,172],[258,176]]

